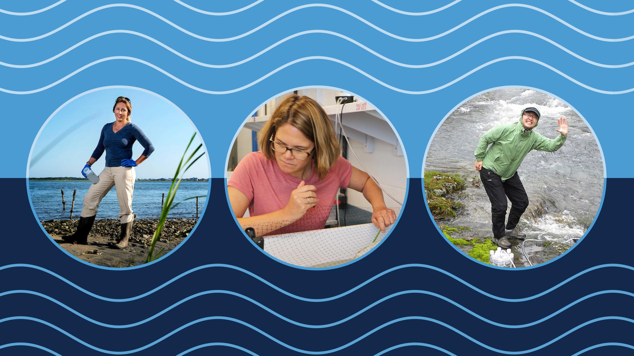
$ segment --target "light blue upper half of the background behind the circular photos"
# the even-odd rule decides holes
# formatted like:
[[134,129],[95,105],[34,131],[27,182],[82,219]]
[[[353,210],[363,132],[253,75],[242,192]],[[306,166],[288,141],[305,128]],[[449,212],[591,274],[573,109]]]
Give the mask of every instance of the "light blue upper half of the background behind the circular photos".
[[[231,7],[235,9],[239,3],[249,4],[237,2]],[[48,60],[103,31],[136,31],[162,42],[193,61],[207,65],[226,65],[245,60],[275,42],[301,31],[328,30],[340,34],[297,35],[252,60],[230,68],[209,68],[191,63],[148,38],[130,33],[101,35],[36,67],[0,66],[0,87],[3,91],[0,92],[0,100],[5,109],[3,126],[6,132],[11,132],[2,143],[4,150],[10,152],[10,155],[6,157],[6,165],[0,177],[24,177],[30,147],[46,118],[68,99],[103,86],[141,87],[171,100],[200,130],[210,153],[212,172],[224,172],[224,158],[236,130],[254,108],[272,95],[302,86],[333,86],[358,92],[385,113],[398,130],[408,152],[412,177],[420,174],[425,146],[432,132],[458,103],[475,92],[493,87],[535,87],[558,96],[586,118],[604,150],[607,177],[633,176],[634,168],[628,164],[631,162],[630,140],[620,134],[627,130],[628,115],[631,113],[631,108],[623,103],[631,103],[633,94],[605,94],[580,84],[598,91],[626,91],[634,86],[631,80],[634,77],[634,68],[630,65],[604,68],[587,63],[545,39],[536,37],[548,35],[546,38],[550,41],[557,42],[587,61],[602,65],[623,65],[631,61],[629,53],[632,40],[604,41],[594,37],[621,39],[633,35],[631,14],[601,15],[569,1],[531,1],[530,6],[535,8],[507,6],[481,16],[469,14],[479,14],[504,3],[461,1],[443,11],[423,17],[385,10],[370,1],[347,10],[337,10],[333,8],[335,2],[330,3],[333,4],[330,7],[312,6],[292,11],[233,41],[205,41],[183,31],[216,39],[239,36],[292,9],[291,4],[257,4],[234,15],[212,16],[190,10],[176,2],[140,1],[137,3],[138,7],[153,11],[156,15],[139,8],[105,8],[35,41],[3,41],[0,61],[10,65],[29,65]],[[106,2],[72,5],[62,3],[51,10],[30,16],[0,14],[0,34],[15,39],[43,35],[100,4]],[[301,4],[304,3],[296,2],[293,6]],[[424,11],[444,4],[446,3],[432,1],[425,4],[392,5],[408,11]],[[622,11],[627,10],[626,4],[617,2],[610,4],[610,7]],[[203,8],[206,6],[205,3],[198,5]],[[587,5],[592,7],[592,4]],[[595,8],[600,8],[600,3],[597,2],[596,5]],[[36,8],[35,5],[33,7]],[[535,10],[536,8],[543,10]],[[4,6],[4,10],[10,9]],[[306,16],[307,14],[310,16]],[[157,16],[169,17],[174,25]],[[583,16],[582,21],[576,21],[579,16]],[[328,26],[325,26],[325,19]],[[569,25],[562,23],[564,21],[569,22]],[[182,27],[183,30],[174,26]],[[455,27],[458,28],[452,30]],[[578,30],[571,27],[578,27]],[[441,61],[484,37],[508,30],[529,31],[536,35],[496,35],[428,68],[403,67],[368,51],[371,49],[391,61],[406,65],[424,65]],[[586,34],[580,33],[581,31]],[[429,41],[411,40],[433,37],[444,32],[448,33]],[[368,49],[341,36],[347,36]],[[410,40],[395,38],[398,36]],[[311,56],[323,58],[305,59],[283,67],[291,61]],[[526,58],[508,59],[509,56]],[[104,58],[110,59],[101,61]],[[328,58],[336,58],[337,61]],[[503,60],[486,65],[446,86],[474,68],[500,58]],[[101,62],[91,65],[94,61]],[[78,73],[48,89],[30,94],[18,93],[49,86],[80,69]],[[266,77],[271,72],[275,73]],[[185,84],[172,79],[167,73]],[[260,81],[253,84],[257,80]],[[443,86],[446,87],[437,89]],[[240,87],[244,89],[239,89]],[[235,92],[208,94],[201,90]],[[432,92],[405,94],[400,91]],[[28,120],[28,125],[25,125],[25,120]],[[214,175],[223,176],[219,173]]]

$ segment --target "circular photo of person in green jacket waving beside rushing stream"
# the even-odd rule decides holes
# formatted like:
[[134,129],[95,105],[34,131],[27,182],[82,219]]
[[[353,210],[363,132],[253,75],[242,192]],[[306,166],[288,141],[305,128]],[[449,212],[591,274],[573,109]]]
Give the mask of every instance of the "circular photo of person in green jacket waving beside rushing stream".
[[592,227],[605,189],[586,120],[552,94],[517,87],[482,92],[448,114],[423,176],[443,238],[498,267],[541,265],[569,251]]

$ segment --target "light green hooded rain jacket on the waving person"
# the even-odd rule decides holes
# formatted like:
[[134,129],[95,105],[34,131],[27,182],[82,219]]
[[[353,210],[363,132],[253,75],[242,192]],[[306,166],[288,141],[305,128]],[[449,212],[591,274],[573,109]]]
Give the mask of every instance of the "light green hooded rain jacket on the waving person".
[[[482,167],[493,170],[502,177],[502,181],[506,181],[513,177],[531,150],[553,152],[566,142],[566,136],[562,134],[555,139],[549,139],[534,132],[535,127],[529,131],[524,130],[520,117],[518,122],[497,125],[484,132],[475,148],[475,162],[482,161]],[[491,147],[486,149],[489,144]]]

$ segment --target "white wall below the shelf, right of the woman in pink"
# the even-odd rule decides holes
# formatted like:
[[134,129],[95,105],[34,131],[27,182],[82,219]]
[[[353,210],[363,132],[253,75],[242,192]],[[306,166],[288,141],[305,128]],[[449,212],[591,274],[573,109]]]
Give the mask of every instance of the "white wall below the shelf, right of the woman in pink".
[[[407,188],[407,170],[405,167],[405,157],[394,155],[394,146],[379,139],[374,140],[373,152],[363,151],[363,143],[354,139],[349,139],[350,145],[354,152],[359,156],[359,160],[363,162],[368,172],[372,174],[379,184],[390,193],[394,198],[403,203],[405,200],[405,189]],[[364,170],[359,161],[354,157],[350,148],[347,152],[347,160],[360,170]],[[347,189],[348,203],[360,208],[371,208],[363,197],[363,194],[354,189]],[[387,194],[383,194],[385,205],[389,208],[400,207],[396,201],[392,200]]]

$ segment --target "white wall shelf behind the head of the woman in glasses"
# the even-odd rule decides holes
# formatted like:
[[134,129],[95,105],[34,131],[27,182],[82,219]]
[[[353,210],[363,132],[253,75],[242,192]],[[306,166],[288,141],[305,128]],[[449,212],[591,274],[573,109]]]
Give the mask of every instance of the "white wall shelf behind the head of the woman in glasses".
[[[341,110],[341,106],[324,106],[323,109],[334,125],[335,113]],[[354,103],[346,104],[344,105],[343,113],[342,122],[347,136],[361,143],[365,143],[367,152],[372,152],[373,150],[373,139],[380,139],[395,147],[395,155],[403,155],[401,145],[392,127],[385,121],[380,113],[368,103],[365,101],[355,101]],[[271,115],[251,117],[247,120],[244,127],[259,131],[269,117],[271,117]],[[337,134],[339,133],[338,131],[339,127],[337,127]]]

